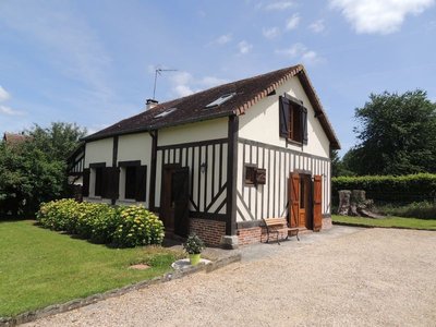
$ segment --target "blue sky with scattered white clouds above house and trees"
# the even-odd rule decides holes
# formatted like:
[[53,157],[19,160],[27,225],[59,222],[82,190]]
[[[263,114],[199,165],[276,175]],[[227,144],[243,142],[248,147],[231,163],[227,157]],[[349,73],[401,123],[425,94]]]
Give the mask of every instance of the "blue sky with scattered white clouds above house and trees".
[[436,101],[436,0],[0,0],[0,132],[89,132],[225,82],[303,63],[342,144],[371,93]]

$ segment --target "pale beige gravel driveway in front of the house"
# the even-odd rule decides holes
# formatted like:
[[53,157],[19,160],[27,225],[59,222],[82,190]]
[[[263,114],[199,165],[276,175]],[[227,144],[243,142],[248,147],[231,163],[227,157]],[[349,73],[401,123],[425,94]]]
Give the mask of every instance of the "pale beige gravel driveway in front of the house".
[[255,249],[26,326],[436,326],[436,232],[356,229]]

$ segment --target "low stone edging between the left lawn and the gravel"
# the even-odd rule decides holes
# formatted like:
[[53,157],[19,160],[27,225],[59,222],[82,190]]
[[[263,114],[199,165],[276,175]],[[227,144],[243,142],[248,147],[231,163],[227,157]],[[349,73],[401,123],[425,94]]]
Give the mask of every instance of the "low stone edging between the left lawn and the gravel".
[[241,253],[238,253],[234,255],[230,255],[230,256],[220,258],[220,259],[213,262],[210,264],[207,264],[207,265],[204,263],[201,263],[201,264],[198,264],[198,266],[191,266],[191,267],[183,268],[181,270],[174,270],[171,272],[167,272],[160,277],[155,277],[155,278],[148,279],[148,280],[143,280],[143,281],[132,283],[132,284],[129,284],[129,286],[125,286],[125,287],[122,287],[119,289],[109,290],[104,293],[97,293],[97,294],[94,294],[94,295],[90,295],[87,298],[71,300],[71,301],[62,303],[62,304],[49,305],[44,308],[19,314],[13,317],[0,317],[0,326],[11,327],[11,326],[20,325],[20,324],[35,322],[37,319],[40,319],[40,318],[44,318],[47,316],[64,313],[64,312],[72,311],[75,308],[80,308],[80,307],[83,307],[83,306],[86,306],[86,305],[89,305],[89,304],[93,304],[93,303],[96,303],[99,301],[104,301],[106,299],[121,296],[131,291],[141,290],[141,289],[144,289],[152,284],[162,283],[162,282],[167,282],[167,281],[170,281],[173,279],[179,279],[184,276],[195,274],[198,271],[205,270],[206,272],[211,272],[221,267],[225,267],[227,265],[230,265],[232,263],[237,263],[240,261],[241,261]]

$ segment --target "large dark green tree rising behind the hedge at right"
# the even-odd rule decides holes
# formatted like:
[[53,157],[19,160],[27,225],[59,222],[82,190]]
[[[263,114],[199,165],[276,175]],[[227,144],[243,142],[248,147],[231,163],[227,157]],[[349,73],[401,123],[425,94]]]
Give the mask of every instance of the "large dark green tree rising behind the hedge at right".
[[436,104],[424,90],[371,94],[355,109],[360,143],[344,156],[358,174],[436,172]]

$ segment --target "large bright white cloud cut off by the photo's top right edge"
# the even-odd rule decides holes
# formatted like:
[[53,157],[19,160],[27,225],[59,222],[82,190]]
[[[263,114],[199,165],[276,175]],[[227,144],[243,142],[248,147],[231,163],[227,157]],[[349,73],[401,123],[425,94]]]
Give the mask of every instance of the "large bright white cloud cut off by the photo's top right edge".
[[435,0],[330,0],[356,33],[390,34],[401,28],[408,14],[419,15]]

